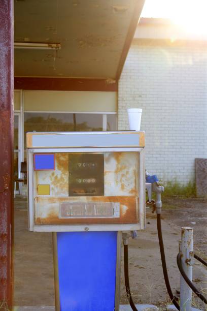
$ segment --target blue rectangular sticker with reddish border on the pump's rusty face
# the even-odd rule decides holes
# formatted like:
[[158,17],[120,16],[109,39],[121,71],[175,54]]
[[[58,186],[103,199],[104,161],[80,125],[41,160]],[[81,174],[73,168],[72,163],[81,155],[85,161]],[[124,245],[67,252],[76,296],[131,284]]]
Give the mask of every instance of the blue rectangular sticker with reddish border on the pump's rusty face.
[[55,170],[54,153],[36,153],[34,154],[34,171]]

